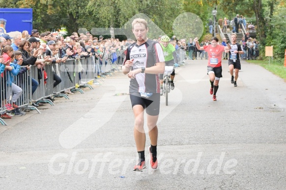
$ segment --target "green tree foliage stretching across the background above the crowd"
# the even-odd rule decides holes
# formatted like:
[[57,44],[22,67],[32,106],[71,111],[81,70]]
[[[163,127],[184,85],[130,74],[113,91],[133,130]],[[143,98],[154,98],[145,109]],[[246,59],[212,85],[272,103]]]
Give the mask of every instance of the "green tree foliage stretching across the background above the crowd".
[[[273,7],[274,5],[274,7]],[[6,8],[33,8],[33,28],[40,32],[65,27],[69,34],[86,28],[125,28],[116,30],[115,35],[132,35],[130,21],[137,14],[144,14],[153,27],[150,38],[158,35],[175,34],[179,38],[197,35],[197,29],[204,29],[204,38],[208,31],[211,11],[217,7],[219,17],[233,18],[236,14],[256,17],[259,22],[261,55],[264,46],[274,46],[274,57],[284,58],[286,49],[286,0],[0,0],[0,6]],[[261,8],[262,7],[262,8]],[[270,16],[267,16],[267,11]],[[202,20],[203,28],[196,19],[182,17],[182,13],[193,13]],[[137,15],[138,16],[138,15]],[[181,20],[179,18],[182,18]],[[264,19],[266,19],[264,21]],[[178,22],[179,20],[179,22]],[[174,22],[175,21],[175,22]],[[266,23],[266,24],[265,24]],[[127,33],[125,33],[128,30]],[[176,31],[175,31],[176,30]],[[175,32],[174,32],[175,31]],[[108,34],[109,31],[106,31]],[[99,35],[100,33],[95,33]]]

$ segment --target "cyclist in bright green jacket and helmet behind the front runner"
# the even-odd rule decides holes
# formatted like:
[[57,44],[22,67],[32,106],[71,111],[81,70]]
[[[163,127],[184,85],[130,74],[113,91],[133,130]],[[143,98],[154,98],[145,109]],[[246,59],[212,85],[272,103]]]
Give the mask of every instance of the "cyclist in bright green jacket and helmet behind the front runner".
[[[165,66],[174,66],[178,67],[178,57],[177,57],[177,53],[176,53],[176,49],[174,48],[174,46],[172,46],[171,44],[169,44],[170,42],[170,38],[166,35],[161,37],[161,47],[163,49],[163,53],[164,53],[164,58],[165,58]],[[175,70],[173,70],[173,72],[171,73],[171,90],[174,90],[175,85],[174,85],[174,78],[175,78]],[[163,74],[159,74],[159,79],[160,79],[160,95],[163,95]]]

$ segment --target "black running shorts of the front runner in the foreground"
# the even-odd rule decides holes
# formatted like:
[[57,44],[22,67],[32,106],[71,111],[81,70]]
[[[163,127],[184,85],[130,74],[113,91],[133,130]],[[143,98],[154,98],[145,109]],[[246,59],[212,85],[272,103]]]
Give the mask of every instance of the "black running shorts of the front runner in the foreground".
[[160,93],[154,93],[149,98],[142,97],[140,93],[131,93],[130,100],[132,108],[141,105],[150,116],[157,116],[160,112]]

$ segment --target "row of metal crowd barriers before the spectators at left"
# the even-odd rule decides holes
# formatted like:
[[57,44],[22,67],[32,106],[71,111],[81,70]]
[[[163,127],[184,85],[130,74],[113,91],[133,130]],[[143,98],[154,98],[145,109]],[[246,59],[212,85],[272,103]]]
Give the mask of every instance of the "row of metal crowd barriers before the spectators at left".
[[[121,64],[120,61],[117,60],[113,61],[108,57],[104,57],[102,59],[102,63],[104,64],[102,64],[101,69],[104,70],[104,77],[108,74],[112,76],[111,73],[114,73],[114,67],[117,67],[118,64]],[[16,100],[15,104],[20,108],[36,110],[38,113],[40,113],[40,111],[35,106],[31,105],[33,102],[36,104],[45,102],[54,105],[50,99],[47,99],[47,97],[57,97],[63,95],[68,98],[67,95],[62,93],[65,90],[71,89],[72,92],[79,91],[83,94],[83,91],[80,89],[81,87],[89,87],[93,89],[92,86],[88,83],[95,82],[94,80],[97,77],[98,72],[103,71],[99,69],[99,66],[100,60],[96,59],[94,56],[91,56],[86,59],[81,58],[80,62],[75,59],[68,59],[65,63],[60,63],[58,67],[55,64],[47,64],[44,67],[41,67],[41,69],[38,69],[37,66],[30,66],[29,70],[22,74],[19,73],[17,76],[12,76],[10,71],[4,71],[1,73],[0,78],[0,114],[2,115],[8,112],[5,109],[5,105],[8,102],[10,104],[13,103],[13,91],[9,82],[11,81],[10,76],[13,77],[13,84],[19,86],[22,89],[22,93]],[[21,69],[24,67],[25,66],[21,67]],[[47,78],[45,78],[45,73],[47,73]],[[57,74],[61,78],[61,82],[55,88],[53,88],[53,74]],[[33,95],[32,78],[39,83],[39,86]],[[1,118],[0,123],[7,125],[6,122]]]

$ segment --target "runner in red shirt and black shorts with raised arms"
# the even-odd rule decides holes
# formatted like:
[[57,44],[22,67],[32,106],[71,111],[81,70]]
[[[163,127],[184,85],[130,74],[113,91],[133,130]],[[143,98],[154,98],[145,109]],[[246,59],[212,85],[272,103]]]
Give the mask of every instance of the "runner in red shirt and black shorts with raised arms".
[[[226,40],[225,38],[223,40]],[[208,52],[208,76],[210,81],[210,95],[213,94],[212,100],[216,101],[216,92],[218,89],[219,79],[222,77],[221,57],[224,50],[231,49],[229,42],[226,42],[228,46],[217,45],[218,39],[216,37],[211,38],[211,44],[208,46],[200,47],[198,38],[195,38],[196,47],[198,50],[205,50]]]

